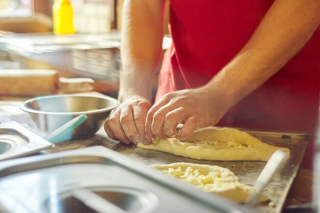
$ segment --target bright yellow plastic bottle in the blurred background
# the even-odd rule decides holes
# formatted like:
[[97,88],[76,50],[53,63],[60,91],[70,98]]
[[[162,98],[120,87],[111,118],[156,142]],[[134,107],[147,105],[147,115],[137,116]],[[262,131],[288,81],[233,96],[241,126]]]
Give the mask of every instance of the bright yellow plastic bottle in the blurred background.
[[73,10],[69,0],[55,0],[52,6],[53,33],[73,34]]

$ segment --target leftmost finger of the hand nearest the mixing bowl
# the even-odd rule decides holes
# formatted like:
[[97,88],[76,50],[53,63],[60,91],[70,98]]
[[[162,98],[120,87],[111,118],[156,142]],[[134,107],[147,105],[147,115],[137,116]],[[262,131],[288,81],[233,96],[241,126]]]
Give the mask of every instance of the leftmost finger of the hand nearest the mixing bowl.
[[130,140],[127,138],[120,124],[120,110],[115,111],[115,113],[112,113],[109,116],[106,125],[107,128],[105,129],[108,131],[108,133],[110,133],[110,135],[112,134],[115,138],[117,138],[125,144],[130,144]]

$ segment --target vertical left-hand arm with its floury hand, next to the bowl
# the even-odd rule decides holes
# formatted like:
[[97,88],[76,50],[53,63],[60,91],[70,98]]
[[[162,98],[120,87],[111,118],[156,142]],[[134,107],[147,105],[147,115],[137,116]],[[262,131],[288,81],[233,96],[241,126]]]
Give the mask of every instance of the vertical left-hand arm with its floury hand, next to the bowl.
[[125,0],[121,30],[118,99],[104,129],[125,144],[147,144],[145,122],[151,107],[156,70],[162,58],[164,0]]

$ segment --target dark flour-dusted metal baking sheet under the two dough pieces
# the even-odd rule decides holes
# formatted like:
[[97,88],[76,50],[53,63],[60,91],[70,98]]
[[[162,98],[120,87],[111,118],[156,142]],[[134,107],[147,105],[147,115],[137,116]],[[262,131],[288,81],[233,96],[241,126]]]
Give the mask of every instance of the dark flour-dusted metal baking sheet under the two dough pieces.
[[[282,210],[285,199],[291,187],[292,181],[299,169],[304,152],[306,150],[310,135],[304,132],[275,132],[275,131],[257,131],[245,130],[264,143],[286,147],[290,150],[290,157],[283,167],[278,170],[275,176],[265,188],[265,193],[270,198],[269,202],[260,203],[255,207],[255,212],[261,213],[279,213]],[[116,150],[135,159],[139,159],[147,164],[165,164],[173,162],[191,162],[199,164],[218,165],[228,168],[234,172],[240,181],[247,185],[253,185],[266,162],[261,161],[209,161],[196,160],[181,156],[175,156],[169,153],[155,150],[135,148],[131,145],[121,144]]]

